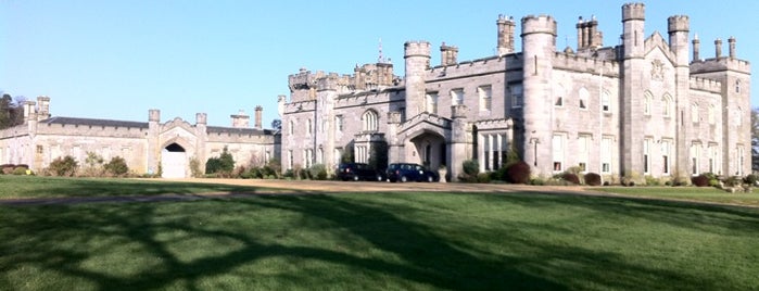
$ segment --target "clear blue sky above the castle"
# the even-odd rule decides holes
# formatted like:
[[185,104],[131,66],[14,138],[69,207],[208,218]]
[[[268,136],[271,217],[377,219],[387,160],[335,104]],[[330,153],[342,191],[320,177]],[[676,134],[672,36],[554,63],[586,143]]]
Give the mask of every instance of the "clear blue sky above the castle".
[[[504,0],[0,0],[0,91],[50,97],[53,116],[161,122],[195,113],[208,125],[231,126],[229,115],[264,107],[263,125],[280,118],[277,97],[289,97],[288,76],[305,67],[352,74],[356,64],[391,59],[403,76],[403,43],[427,40],[432,64],[444,41],[458,61],[495,54],[499,14],[520,21],[552,15],[557,49],[577,48],[579,16],[598,20],[604,46],[622,33],[630,1]],[[580,4],[577,4],[580,3]],[[646,4],[645,33],[667,39],[667,17],[688,15],[701,58],[713,41],[737,39],[738,59],[759,61],[759,1],[670,1]],[[380,42],[381,41],[381,42]],[[756,75],[752,83],[757,83]],[[751,92],[759,105],[759,88]]]

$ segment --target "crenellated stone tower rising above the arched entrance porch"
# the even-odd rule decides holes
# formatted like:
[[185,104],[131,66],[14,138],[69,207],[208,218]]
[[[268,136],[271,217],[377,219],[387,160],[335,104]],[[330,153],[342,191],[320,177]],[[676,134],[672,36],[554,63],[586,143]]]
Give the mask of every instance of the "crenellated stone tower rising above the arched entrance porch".
[[406,41],[406,119],[421,113],[425,105],[425,72],[430,67],[430,42]]

